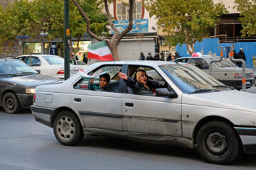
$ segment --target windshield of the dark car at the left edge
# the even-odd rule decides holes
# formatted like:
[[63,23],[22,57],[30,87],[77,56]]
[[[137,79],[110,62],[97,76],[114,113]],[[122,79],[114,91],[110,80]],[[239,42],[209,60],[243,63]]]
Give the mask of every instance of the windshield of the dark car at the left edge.
[[0,62],[0,76],[21,76],[28,74],[38,74],[36,70],[29,67],[20,60],[9,60]]

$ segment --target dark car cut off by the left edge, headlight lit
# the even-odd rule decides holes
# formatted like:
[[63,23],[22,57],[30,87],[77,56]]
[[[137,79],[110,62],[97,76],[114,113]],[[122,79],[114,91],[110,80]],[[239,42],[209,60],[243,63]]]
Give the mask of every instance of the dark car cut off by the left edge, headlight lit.
[[0,106],[7,113],[18,113],[33,104],[36,86],[61,82],[60,79],[38,74],[20,60],[0,58]]

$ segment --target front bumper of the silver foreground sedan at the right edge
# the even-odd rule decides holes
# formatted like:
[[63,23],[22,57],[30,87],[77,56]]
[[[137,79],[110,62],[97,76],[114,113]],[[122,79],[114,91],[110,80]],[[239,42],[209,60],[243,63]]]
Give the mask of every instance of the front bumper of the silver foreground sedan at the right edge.
[[256,128],[235,127],[247,154],[256,154]]

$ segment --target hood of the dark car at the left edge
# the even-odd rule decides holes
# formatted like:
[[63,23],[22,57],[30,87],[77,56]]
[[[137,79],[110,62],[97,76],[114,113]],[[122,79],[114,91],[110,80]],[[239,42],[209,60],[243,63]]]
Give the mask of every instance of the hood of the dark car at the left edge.
[[63,80],[57,79],[55,77],[46,76],[43,74],[31,74],[21,77],[5,77],[1,78],[1,81],[6,81],[12,84],[22,86],[38,86],[42,84],[53,84],[57,82],[62,82]]

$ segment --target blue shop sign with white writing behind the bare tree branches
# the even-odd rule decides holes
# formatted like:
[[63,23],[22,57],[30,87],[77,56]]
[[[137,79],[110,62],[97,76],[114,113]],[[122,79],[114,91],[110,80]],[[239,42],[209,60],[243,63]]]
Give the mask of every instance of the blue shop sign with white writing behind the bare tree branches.
[[[140,20],[133,20],[132,21],[132,30],[129,31],[129,33],[148,33],[149,32],[149,21],[148,19],[140,19]],[[114,21],[114,26],[119,30],[120,33],[122,33],[125,28],[127,28],[129,24],[128,20],[122,20],[122,21]],[[113,30],[111,30],[111,33],[114,33]]]

